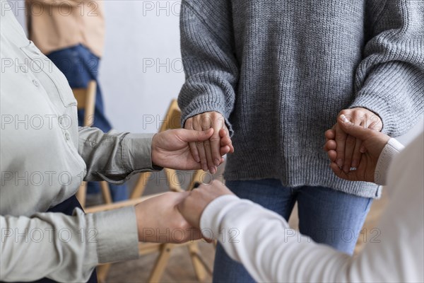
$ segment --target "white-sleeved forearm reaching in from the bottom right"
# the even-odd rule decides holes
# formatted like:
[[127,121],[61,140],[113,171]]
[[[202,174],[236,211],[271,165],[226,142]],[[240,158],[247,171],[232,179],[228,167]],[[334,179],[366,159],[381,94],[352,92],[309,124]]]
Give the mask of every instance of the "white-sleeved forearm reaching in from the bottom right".
[[204,210],[201,229],[205,236],[211,231],[258,282],[348,281],[351,257],[314,243],[290,229],[283,217],[253,202],[218,197]]

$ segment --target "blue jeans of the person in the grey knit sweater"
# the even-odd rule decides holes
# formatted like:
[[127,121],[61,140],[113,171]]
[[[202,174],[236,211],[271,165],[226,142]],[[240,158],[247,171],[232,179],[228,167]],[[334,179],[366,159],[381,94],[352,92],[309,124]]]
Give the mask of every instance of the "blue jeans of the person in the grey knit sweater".
[[[372,204],[370,198],[349,195],[328,187],[284,187],[276,179],[227,181],[226,185],[238,197],[257,202],[286,220],[297,201],[300,233],[348,254],[353,253]],[[254,279],[243,265],[231,260],[218,244],[213,282],[245,283],[254,282]]]

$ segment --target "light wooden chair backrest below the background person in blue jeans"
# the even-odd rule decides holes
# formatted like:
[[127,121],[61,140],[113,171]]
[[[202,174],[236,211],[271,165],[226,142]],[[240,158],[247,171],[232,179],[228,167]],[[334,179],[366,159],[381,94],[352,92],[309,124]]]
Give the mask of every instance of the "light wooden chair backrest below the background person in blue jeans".
[[97,83],[95,81],[89,81],[87,88],[72,88],[78,109],[84,110],[84,127],[90,127],[94,122],[96,88]]

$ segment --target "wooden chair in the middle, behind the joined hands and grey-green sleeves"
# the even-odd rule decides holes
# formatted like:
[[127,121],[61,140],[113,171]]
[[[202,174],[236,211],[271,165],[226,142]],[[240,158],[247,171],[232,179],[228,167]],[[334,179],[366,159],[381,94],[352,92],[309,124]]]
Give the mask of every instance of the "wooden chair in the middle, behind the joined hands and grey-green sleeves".
[[[177,105],[177,100],[172,100],[172,103],[170,105],[170,108],[167,111],[167,115],[165,117],[165,122],[160,127],[160,132],[163,132],[167,129],[178,129],[180,128],[180,119],[181,119],[181,112]],[[170,176],[175,176],[176,171],[164,168],[165,174],[167,178]],[[194,187],[194,183],[202,182],[202,176],[206,174],[203,171],[196,171],[193,174],[192,180],[190,180],[188,190],[192,190]],[[119,207],[126,207],[130,205],[138,204],[139,202],[143,202],[144,200],[147,200],[148,198],[155,197],[156,195],[160,194],[154,194],[154,195],[147,195],[145,197],[141,197],[143,195],[143,192],[146,188],[146,183],[149,180],[149,177],[151,176],[151,173],[141,173],[139,175],[139,180],[137,180],[137,183],[134,187],[133,192],[131,193],[130,200],[124,201],[124,202],[114,202],[113,204],[104,204],[96,207],[88,207],[86,208],[86,213],[93,213],[93,212],[102,212],[105,210],[110,209],[117,209]],[[170,184],[169,189],[173,192],[182,192],[184,189],[181,187],[182,184],[175,183],[175,180],[168,180],[168,183]],[[155,264],[153,265],[153,269],[151,270],[151,274],[149,275],[148,282],[159,282],[160,278],[163,275],[163,272],[165,271],[165,267],[167,265],[167,262],[170,259],[171,252],[174,248],[186,246],[187,250],[189,252],[189,256],[192,259],[192,264],[194,267],[194,272],[196,273],[196,278],[199,280],[199,282],[203,282],[204,279],[206,279],[206,272],[209,274],[212,274],[211,268],[208,267],[206,262],[201,258],[198,241],[192,241],[189,243],[183,243],[183,244],[173,244],[173,243],[139,243],[139,254],[140,255],[147,255],[150,253],[158,253],[158,257],[155,260]],[[107,277],[107,273],[110,270],[111,264],[106,265],[99,265],[98,266],[98,281],[99,282],[105,282],[105,279]]]

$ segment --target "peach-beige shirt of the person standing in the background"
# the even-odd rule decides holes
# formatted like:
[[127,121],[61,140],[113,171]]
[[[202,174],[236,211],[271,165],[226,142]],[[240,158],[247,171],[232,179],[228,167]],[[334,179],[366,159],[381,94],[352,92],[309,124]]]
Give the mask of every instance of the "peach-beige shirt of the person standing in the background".
[[105,18],[102,0],[26,0],[30,40],[44,54],[82,44],[102,57]]

